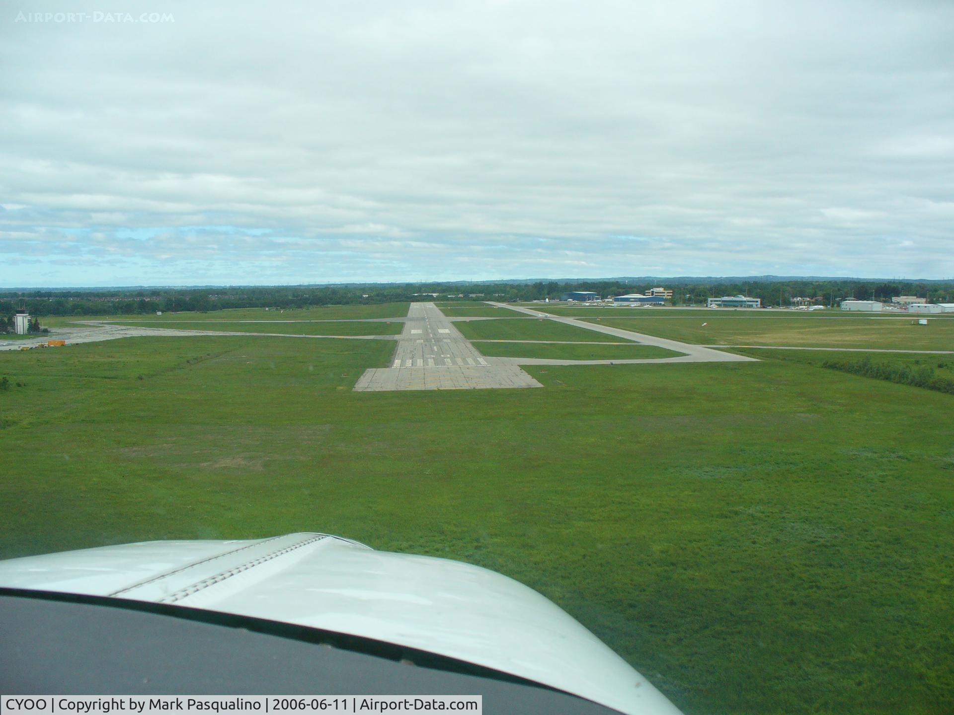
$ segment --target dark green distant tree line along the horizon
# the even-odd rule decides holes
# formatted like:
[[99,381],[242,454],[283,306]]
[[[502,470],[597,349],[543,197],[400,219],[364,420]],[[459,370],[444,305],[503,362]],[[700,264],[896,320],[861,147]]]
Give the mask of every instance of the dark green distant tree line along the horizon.
[[187,289],[129,289],[112,291],[34,291],[0,294],[0,316],[26,307],[37,316],[94,316],[219,311],[227,308],[306,308],[321,305],[433,300],[558,299],[568,291],[592,291],[602,297],[645,293],[662,283],[673,290],[674,305],[705,305],[718,296],[751,296],[762,305],[791,305],[796,297],[820,305],[837,305],[845,298],[890,300],[920,296],[928,302],[954,302],[954,281],[884,283],[861,280],[752,280],[749,282],[628,283],[619,280],[536,281],[532,283],[406,283],[346,286],[272,286]]

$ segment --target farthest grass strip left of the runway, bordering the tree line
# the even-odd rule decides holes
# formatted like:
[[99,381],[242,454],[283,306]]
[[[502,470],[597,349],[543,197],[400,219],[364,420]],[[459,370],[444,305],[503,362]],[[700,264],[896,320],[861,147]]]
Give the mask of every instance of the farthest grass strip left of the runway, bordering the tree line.
[[47,316],[40,317],[44,327],[73,325],[77,320],[148,320],[149,322],[176,322],[178,320],[366,320],[375,317],[405,317],[409,303],[376,303],[374,305],[321,305],[313,308],[234,308],[209,313],[163,313],[161,316]]

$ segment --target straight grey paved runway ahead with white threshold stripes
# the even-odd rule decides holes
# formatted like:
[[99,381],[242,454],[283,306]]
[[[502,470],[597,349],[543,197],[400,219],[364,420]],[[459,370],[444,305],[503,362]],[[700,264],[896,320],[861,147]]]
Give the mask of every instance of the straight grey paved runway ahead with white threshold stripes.
[[515,364],[485,358],[433,303],[411,303],[390,367],[365,370],[357,392],[543,387]]

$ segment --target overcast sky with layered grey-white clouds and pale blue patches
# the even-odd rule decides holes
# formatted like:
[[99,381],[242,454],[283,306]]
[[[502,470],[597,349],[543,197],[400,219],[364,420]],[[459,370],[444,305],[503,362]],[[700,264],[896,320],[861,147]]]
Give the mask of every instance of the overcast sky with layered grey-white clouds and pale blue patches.
[[0,286],[954,277],[952,38],[945,0],[7,0]]

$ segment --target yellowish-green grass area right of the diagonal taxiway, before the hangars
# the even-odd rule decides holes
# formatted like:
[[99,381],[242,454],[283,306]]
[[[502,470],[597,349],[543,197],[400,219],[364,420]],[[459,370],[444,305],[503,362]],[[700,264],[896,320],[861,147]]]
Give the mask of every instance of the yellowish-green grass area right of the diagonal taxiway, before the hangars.
[[[592,317],[585,319],[596,321]],[[599,323],[700,345],[954,350],[954,319],[950,318],[918,325],[914,318],[826,318],[741,311],[725,316],[697,311],[694,316],[669,316],[660,312],[602,317]]]

